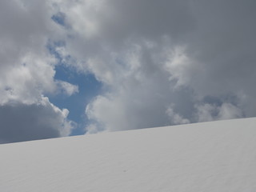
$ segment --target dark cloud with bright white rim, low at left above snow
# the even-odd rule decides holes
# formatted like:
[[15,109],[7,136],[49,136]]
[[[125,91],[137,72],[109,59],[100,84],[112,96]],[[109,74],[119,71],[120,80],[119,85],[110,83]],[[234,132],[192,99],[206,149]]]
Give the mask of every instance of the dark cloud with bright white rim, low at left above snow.
[[0,106],[0,143],[67,136],[75,126],[67,119],[68,113],[48,98],[30,105],[13,102]]

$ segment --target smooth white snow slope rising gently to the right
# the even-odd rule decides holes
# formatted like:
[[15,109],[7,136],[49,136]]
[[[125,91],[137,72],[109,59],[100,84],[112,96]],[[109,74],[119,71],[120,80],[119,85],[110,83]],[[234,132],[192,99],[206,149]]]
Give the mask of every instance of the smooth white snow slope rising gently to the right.
[[0,191],[256,191],[256,118],[0,145]]

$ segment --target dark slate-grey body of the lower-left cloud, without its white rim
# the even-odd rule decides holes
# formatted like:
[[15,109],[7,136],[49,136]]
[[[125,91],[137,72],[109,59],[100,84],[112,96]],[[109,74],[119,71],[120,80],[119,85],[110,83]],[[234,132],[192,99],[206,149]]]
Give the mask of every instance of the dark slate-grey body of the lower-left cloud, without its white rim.
[[[18,105],[18,106],[1,106],[0,122],[1,122],[1,141],[2,142],[22,142],[42,138],[59,137],[58,130],[50,126],[47,122],[52,117],[42,118],[42,114],[46,114],[40,106]],[[41,119],[42,118],[42,119]]]

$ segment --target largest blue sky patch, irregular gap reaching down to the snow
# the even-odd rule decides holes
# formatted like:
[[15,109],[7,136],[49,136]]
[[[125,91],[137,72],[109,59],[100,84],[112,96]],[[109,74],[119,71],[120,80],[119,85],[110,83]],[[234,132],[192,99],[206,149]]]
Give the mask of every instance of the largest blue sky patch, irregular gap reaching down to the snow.
[[[79,73],[62,63],[63,59],[55,50],[56,46],[65,46],[65,42],[51,42],[47,45],[50,54],[53,54],[59,62],[55,66],[54,78],[78,86],[79,92],[71,96],[65,94],[50,95],[50,102],[61,109],[66,108],[70,111],[68,118],[78,124],[71,135],[84,134],[85,126],[89,124],[85,114],[86,106],[94,97],[102,93],[102,82],[98,82],[94,74]],[[70,59],[72,58],[70,57]]]

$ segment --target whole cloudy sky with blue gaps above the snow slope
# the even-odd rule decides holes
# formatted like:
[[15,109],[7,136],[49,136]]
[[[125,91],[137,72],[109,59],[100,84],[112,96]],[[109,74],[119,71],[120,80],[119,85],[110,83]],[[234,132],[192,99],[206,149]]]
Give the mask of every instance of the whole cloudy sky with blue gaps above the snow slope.
[[0,143],[256,116],[254,0],[3,0]]

